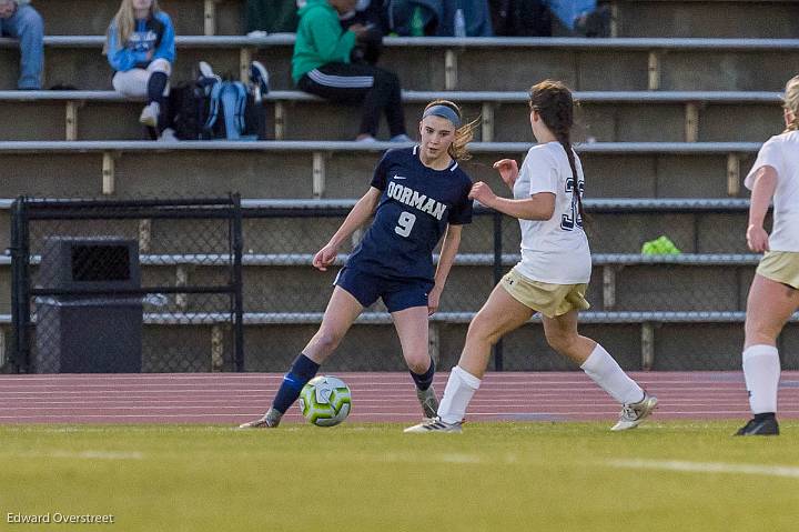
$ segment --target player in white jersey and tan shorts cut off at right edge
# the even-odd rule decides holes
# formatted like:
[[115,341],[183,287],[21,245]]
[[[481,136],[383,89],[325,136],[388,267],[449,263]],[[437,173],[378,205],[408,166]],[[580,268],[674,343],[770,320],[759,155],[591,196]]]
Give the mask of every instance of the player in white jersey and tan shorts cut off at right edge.
[[[747,244],[766,255],[749,289],[744,375],[754,418],[736,435],[777,435],[777,337],[799,308],[799,76],[786,86],[782,134],[760,148],[744,184],[752,191]],[[763,218],[773,198],[771,235]]]

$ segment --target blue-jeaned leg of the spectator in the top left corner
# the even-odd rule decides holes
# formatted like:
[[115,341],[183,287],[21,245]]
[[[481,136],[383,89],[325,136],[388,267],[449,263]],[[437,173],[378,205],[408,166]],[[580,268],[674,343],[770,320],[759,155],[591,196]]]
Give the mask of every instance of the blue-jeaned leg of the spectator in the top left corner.
[[44,22],[30,0],[0,0],[0,36],[20,41],[21,90],[41,89],[44,60]]

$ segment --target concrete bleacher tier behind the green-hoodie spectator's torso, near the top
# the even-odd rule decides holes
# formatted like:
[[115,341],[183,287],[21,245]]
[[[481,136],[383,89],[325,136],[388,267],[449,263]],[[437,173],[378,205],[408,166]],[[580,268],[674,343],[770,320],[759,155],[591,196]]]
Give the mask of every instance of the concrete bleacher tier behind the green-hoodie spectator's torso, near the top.
[[[44,87],[111,88],[102,36],[45,38]],[[175,81],[193,79],[196,63],[239,78],[262,61],[273,89],[291,81],[293,36],[179,37]],[[409,90],[518,91],[545,78],[575,90],[778,91],[785,66],[799,60],[797,39],[387,38],[382,66]],[[507,64],[516,68],[507,69]],[[0,39],[0,89],[13,89],[17,42]]]

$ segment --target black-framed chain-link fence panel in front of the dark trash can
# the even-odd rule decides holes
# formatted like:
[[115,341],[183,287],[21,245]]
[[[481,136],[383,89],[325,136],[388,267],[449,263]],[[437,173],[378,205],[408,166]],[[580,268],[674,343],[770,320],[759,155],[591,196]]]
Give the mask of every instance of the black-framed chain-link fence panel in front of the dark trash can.
[[240,214],[235,197],[18,200],[11,362],[37,373],[241,369]]

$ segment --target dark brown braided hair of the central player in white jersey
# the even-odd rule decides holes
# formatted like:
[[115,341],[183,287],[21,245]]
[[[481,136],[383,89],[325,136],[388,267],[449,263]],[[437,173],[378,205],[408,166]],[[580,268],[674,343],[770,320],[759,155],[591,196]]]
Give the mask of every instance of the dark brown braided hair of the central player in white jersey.
[[585,224],[586,214],[583,209],[583,191],[579,187],[577,162],[572,149],[572,127],[574,126],[575,109],[572,91],[560,81],[544,80],[530,88],[529,107],[538,112],[546,127],[549,128],[566,151],[575,183],[573,193],[577,197],[577,209]]

